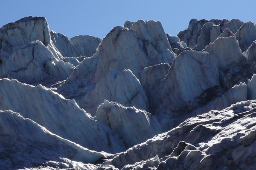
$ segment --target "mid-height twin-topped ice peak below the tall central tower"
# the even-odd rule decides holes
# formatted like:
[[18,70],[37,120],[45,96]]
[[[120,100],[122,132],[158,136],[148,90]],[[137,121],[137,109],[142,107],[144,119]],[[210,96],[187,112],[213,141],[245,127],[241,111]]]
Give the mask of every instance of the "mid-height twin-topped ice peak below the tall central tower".
[[90,113],[96,114],[97,107],[105,100],[118,102],[124,106],[134,106],[138,109],[148,109],[148,98],[140,81],[131,70],[120,73],[110,69],[96,83],[93,91],[78,100],[79,105]]

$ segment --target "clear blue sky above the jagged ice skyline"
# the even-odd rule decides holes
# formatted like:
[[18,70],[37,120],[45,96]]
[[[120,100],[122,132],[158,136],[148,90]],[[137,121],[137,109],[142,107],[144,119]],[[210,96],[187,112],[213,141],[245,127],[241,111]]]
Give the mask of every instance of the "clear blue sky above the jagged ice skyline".
[[103,38],[126,20],[159,20],[177,35],[195,19],[237,18],[256,23],[256,0],[1,0],[0,26],[25,16],[46,17],[50,30],[69,38]]

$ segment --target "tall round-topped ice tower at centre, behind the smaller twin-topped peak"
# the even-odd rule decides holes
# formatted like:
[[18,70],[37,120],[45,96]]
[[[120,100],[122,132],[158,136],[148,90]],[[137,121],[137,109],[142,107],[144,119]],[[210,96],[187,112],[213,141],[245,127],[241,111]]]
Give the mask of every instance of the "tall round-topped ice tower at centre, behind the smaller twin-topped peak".
[[130,69],[138,76],[148,66],[143,42],[138,39],[136,32],[122,26],[116,26],[103,38],[93,57],[99,58],[95,82],[110,68],[117,72]]

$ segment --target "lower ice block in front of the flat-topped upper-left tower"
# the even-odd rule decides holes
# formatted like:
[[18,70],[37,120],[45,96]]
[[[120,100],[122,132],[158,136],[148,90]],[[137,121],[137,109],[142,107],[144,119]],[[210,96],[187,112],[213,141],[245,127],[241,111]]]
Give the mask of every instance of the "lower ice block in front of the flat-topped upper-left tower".
[[36,40],[15,48],[8,48],[15,49],[10,51],[11,54],[6,54],[8,57],[0,57],[3,63],[0,67],[0,77],[35,83],[49,76],[67,78],[74,69],[73,65],[56,58],[41,41]]

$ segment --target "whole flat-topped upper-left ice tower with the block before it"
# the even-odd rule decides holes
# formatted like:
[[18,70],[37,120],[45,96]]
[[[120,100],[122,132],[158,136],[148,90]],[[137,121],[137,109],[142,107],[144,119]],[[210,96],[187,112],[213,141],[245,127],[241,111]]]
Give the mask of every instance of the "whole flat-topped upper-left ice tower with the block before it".
[[0,48],[0,77],[37,83],[65,79],[74,70],[72,64],[62,61],[44,17],[24,17],[3,26]]

